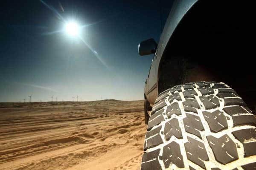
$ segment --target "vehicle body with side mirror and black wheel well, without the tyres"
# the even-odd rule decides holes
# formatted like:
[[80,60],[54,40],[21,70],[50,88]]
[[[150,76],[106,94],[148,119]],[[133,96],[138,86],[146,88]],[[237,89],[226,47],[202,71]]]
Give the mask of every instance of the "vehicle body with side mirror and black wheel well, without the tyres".
[[[253,14],[244,1],[177,0],[158,45],[140,43],[140,55],[153,54],[144,98],[150,107],[166,89],[186,82],[226,82],[254,110]],[[248,83],[250,88],[248,88]],[[148,113],[150,114],[148,109]]]

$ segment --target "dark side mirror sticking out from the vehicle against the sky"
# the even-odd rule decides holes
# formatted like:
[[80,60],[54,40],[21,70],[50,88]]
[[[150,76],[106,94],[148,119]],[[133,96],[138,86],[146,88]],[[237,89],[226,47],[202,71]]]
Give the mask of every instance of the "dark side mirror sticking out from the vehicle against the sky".
[[157,43],[153,38],[140,42],[139,44],[139,54],[141,56],[154,54],[157,50]]

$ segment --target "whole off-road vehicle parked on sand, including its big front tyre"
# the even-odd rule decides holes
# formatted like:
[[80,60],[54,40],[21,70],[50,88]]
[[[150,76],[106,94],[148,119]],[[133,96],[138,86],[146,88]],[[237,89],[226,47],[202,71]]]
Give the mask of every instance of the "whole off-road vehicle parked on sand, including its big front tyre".
[[144,90],[147,133],[141,170],[256,167],[254,5],[177,0]]

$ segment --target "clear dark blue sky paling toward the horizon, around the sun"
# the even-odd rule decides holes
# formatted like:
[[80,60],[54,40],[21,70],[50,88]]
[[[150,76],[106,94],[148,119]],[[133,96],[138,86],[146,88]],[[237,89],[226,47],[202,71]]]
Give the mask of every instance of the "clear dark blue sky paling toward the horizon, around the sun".
[[[44,4],[45,3],[45,4]],[[137,47],[159,40],[159,0],[1,2],[0,102],[143,99],[151,56]],[[48,5],[48,7],[46,6]],[[172,1],[162,0],[163,25]],[[64,32],[76,20],[81,38]],[[94,52],[93,52],[93,51]]]

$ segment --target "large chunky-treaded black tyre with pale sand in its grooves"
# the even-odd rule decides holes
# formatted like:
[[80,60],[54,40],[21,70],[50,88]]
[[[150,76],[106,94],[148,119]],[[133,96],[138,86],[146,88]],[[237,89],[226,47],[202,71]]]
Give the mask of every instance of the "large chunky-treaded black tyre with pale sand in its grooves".
[[177,85],[155,101],[141,170],[254,170],[256,118],[228,85]]

